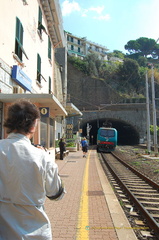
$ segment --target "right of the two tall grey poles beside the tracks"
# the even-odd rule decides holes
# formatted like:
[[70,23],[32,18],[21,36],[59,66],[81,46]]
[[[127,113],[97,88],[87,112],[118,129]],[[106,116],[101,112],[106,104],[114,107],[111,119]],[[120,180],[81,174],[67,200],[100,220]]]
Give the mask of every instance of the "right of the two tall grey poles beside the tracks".
[[152,109],[153,109],[153,128],[154,128],[154,152],[158,153],[157,147],[157,126],[156,126],[156,104],[155,104],[155,83],[154,67],[151,65],[151,85],[152,85]]

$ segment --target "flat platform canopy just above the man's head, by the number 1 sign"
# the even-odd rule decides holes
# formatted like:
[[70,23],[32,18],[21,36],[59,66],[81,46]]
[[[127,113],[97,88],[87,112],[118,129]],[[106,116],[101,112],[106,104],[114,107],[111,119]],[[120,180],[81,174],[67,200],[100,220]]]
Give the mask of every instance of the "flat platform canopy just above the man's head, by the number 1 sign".
[[29,99],[32,103],[39,103],[40,107],[49,107],[50,117],[67,116],[65,108],[53,94],[0,93],[0,101],[3,103],[12,103],[20,98]]

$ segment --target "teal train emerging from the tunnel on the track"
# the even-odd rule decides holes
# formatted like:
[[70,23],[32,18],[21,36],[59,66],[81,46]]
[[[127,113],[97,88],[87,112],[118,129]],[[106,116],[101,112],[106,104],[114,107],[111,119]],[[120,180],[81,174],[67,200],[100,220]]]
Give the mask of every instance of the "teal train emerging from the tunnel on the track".
[[112,152],[117,146],[118,133],[115,128],[100,127],[97,132],[97,152]]

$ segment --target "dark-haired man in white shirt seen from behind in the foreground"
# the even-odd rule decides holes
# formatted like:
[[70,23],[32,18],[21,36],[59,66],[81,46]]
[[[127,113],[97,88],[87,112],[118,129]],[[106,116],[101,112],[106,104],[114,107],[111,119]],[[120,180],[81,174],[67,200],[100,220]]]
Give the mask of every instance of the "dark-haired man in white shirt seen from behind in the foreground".
[[0,240],[52,240],[44,202],[59,200],[65,189],[57,164],[31,144],[39,118],[25,99],[8,108],[8,137],[0,140]]

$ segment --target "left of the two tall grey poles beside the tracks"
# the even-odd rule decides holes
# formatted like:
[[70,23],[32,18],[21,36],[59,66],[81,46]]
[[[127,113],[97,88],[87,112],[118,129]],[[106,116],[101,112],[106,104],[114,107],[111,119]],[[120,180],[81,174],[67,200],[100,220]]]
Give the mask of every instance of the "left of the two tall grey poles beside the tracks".
[[147,108],[147,151],[151,152],[151,135],[150,135],[150,104],[149,104],[149,90],[148,90],[148,75],[146,71],[146,108]]

